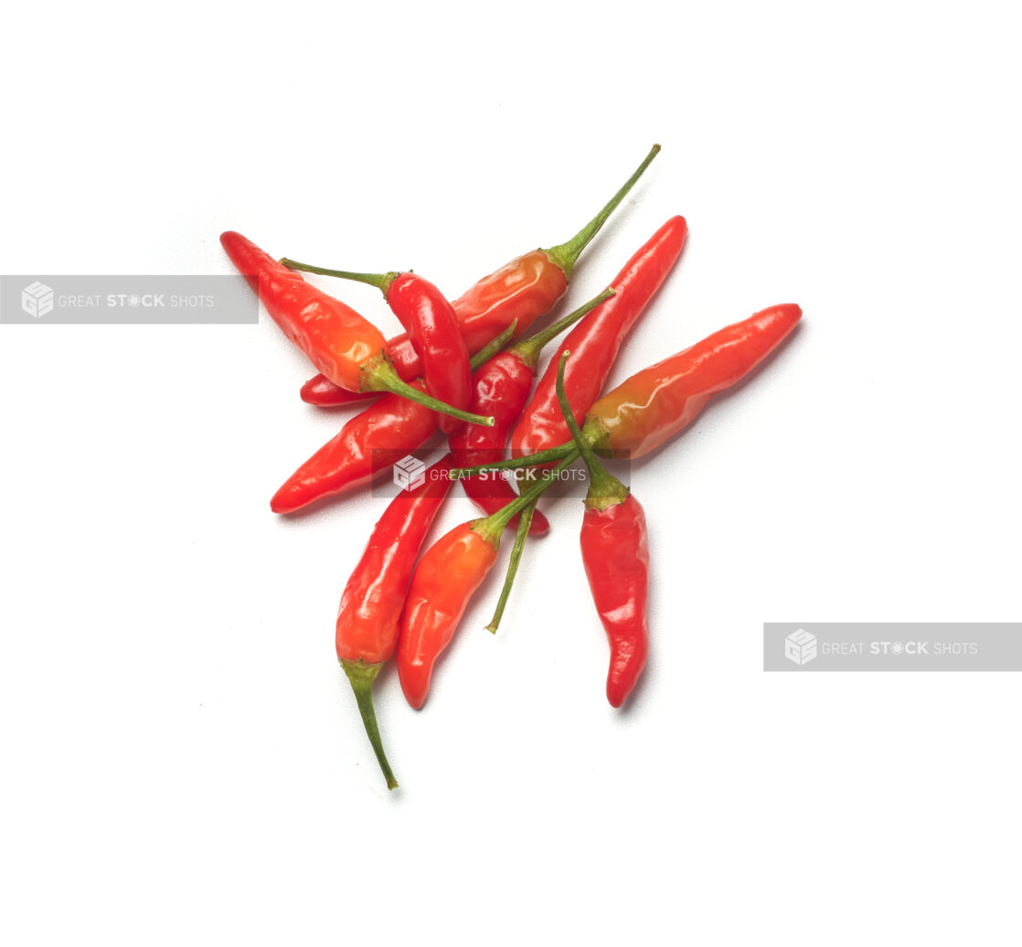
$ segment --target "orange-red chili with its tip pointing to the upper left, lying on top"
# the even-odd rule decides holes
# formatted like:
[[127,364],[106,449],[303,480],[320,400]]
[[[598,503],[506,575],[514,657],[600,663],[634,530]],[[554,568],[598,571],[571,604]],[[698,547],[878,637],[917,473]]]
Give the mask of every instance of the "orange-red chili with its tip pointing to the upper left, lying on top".
[[334,384],[349,391],[389,391],[461,421],[494,423],[493,418],[469,415],[411,386],[394,371],[379,329],[241,234],[227,231],[220,242],[273,321]]

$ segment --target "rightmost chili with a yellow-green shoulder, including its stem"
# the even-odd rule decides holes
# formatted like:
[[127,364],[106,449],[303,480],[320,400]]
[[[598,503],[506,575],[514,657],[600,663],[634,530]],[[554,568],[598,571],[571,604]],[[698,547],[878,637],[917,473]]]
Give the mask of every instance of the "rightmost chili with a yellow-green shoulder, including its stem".
[[[601,457],[639,458],[691,424],[718,391],[752,371],[798,324],[793,302],[772,305],[727,326],[690,348],[637,372],[589,411],[582,433]],[[499,464],[452,471],[530,467],[575,456],[573,441]]]

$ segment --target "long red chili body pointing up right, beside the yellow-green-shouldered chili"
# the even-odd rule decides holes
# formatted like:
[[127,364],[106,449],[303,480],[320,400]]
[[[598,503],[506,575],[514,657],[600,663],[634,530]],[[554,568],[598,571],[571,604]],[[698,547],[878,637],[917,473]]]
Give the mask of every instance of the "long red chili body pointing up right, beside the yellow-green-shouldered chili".
[[[580,322],[561,343],[575,357],[568,363],[564,387],[575,414],[585,415],[600,396],[614,359],[632,326],[659,289],[685,246],[683,217],[667,221],[625,264],[611,285],[616,295]],[[557,404],[555,358],[536,386],[532,399],[511,435],[511,456],[536,454],[569,436]]]

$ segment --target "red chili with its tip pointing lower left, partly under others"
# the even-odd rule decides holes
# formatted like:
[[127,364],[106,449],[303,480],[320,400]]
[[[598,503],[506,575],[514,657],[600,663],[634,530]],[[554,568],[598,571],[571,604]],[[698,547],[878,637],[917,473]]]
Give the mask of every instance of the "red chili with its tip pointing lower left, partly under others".
[[[511,330],[494,339],[472,358],[483,364],[511,337]],[[422,382],[414,382],[416,386]],[[385,394],[359,412],[284,481],[270,501],[274,513],[293,513],[303,507],[370,482],[436,431],[436,415],[396,394]]]

